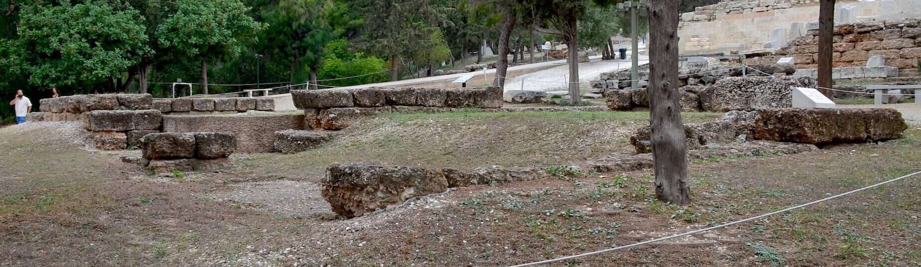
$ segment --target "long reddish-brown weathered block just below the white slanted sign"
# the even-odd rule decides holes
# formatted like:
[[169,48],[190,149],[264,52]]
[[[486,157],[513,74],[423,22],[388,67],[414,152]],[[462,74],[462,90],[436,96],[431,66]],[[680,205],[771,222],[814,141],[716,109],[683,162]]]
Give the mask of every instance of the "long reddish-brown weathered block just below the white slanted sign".
[[802,144],[884,141],[902,137],[907,125],[892,109],[759,110],[756,139]]

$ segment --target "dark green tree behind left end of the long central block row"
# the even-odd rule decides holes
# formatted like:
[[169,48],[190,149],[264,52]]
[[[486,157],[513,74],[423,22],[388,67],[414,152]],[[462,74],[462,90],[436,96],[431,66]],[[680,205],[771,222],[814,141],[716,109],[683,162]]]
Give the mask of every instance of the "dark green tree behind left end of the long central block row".
[[264,10],[262,17],[268,27],[262,32],[267,52],[290,65],[290,81],[295,83],[297,71],[307,67],[310,84],[317,88],[317,72],[324,57],[323,47],[335,38],[323,0],[281,0]]

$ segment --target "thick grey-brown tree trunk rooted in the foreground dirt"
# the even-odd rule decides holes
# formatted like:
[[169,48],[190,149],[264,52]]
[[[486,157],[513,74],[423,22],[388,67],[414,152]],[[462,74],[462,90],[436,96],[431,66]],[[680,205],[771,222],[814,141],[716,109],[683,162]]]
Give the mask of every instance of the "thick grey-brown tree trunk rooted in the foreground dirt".
[[691,202],[687,175],[687,144],[678,100],[679,1],[653,0],[649,29],[649,121],[652,123],[652,157],[656,198],[663,202]]

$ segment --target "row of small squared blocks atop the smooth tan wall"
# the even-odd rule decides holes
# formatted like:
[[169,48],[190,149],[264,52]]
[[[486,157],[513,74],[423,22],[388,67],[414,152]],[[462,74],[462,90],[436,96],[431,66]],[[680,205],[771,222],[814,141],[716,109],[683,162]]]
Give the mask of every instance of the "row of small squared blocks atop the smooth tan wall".
[[153,109],[160,112],[275,110],[274,99],[154,99]]

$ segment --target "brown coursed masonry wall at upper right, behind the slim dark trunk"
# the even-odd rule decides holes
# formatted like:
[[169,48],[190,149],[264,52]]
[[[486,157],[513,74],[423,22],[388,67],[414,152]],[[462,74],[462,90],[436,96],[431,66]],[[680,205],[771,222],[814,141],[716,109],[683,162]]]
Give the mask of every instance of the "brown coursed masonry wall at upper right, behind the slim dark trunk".
[[[809,30],[806,36],[789,41],[775,55],[746,59],[746,64],[776,62],[782,57],[793,57],[799,69],[818,67],[819,31]],[[885,66],[902,72],[917,73],[921,60],[921,17],[885,21],[841,24],[834,28],[834,67],[867,66],[870,57],[885,56]],[[889,75],[888,69],[874,71],[871,76]],[[860,78],[852,75],[840,78]]]

